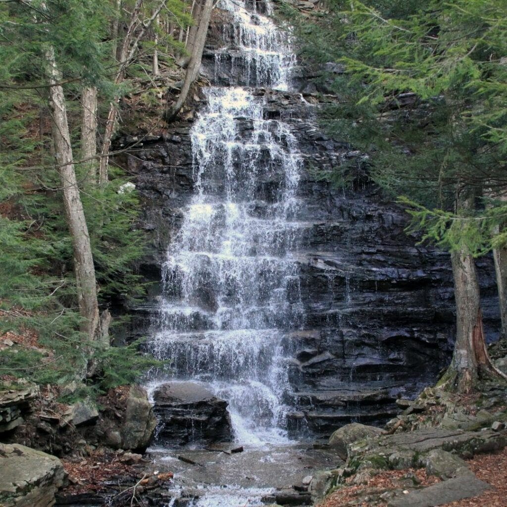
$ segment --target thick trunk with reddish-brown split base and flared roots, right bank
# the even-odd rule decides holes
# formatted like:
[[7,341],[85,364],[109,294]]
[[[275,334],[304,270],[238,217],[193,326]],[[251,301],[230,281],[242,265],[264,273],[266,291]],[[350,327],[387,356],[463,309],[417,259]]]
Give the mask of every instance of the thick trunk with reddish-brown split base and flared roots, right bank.
[[485,377],[505,378],[491,363],[482,324],[479,279],[474,257],[466,251],[451,252],[456,300],[456,343],[451,365],[442,384],[468,393]]

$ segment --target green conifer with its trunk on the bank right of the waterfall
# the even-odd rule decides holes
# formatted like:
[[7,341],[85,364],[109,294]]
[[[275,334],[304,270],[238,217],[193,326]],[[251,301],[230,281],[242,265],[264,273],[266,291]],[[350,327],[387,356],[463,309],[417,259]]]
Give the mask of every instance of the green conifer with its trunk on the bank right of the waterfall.
[[424,240],[451,252],[457,338],[446,382],[467,391],[501,375],[484,345],[474,258],[495,252],[505,339],[507,3],[330,0],[311,22],[285,9],[306,60],[333,69],[317,78],[338,97],[322,121],[364,152],[369,177]]

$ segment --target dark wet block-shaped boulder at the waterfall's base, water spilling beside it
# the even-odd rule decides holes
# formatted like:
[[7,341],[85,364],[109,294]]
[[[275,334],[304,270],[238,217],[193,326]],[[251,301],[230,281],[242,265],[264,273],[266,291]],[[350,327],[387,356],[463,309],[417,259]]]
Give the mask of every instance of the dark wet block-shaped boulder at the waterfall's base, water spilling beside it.
[[233,438],[227,402],[195,382],[163,384],[154,393],[161,442],[229,442]]

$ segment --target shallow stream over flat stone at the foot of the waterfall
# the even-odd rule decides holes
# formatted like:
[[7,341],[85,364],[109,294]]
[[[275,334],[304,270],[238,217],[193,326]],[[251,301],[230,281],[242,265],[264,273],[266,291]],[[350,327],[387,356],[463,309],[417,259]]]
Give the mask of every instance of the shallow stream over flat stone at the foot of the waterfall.
[[[220,447],[220,450],[219,450]],[[230,453],[237,444],[212,447],[214,450],[149,450],[155,466],[174,472],[169,493],[178,498],[193,498],[196,505],[259,505],[261,500],[291,496],[296,504],[307,501],[303,479],[322,468],[339,466],[342,461],[333,452],[304,445],[244,447]],[[196,464],[190,464],[178,456]],[[300,485],[300,491],[293,486]],[[299,500],[298,500],[299,495]],[[298,503],[299,501],[299,503]],[[270,503],[268,501],[268,503]]]

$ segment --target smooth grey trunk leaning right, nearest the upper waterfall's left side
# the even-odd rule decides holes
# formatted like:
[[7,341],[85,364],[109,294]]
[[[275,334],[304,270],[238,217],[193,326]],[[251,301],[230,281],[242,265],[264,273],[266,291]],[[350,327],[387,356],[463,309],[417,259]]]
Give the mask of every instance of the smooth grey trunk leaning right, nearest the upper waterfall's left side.
[[204,0],[204,6],[199,20],[199,26],[196,32],[192,53],[190,56],[189,65],[185,74],[185,80],[183,82],[182,91],[179,93],[179,97],[173,107],[167,105],[164,114],[166,122],[172,121],[183,107],[187,95],[189,93],[192,83],[196,80],[199,75],[199,69],[201,67],[202,52],[206,43],[206,35],[208,33],[209,20],[211,18],[211,11],[213,10],[213,0]]

